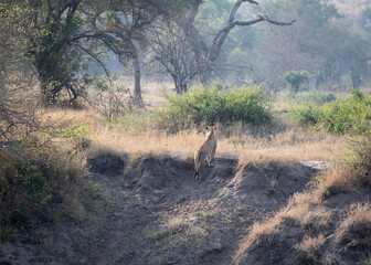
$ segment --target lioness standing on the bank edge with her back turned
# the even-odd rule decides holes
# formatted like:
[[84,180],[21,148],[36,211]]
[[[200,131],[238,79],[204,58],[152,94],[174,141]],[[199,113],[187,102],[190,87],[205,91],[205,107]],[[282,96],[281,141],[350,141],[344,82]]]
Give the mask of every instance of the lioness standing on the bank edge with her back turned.
[[199,171],[201,167],[208,163],[211,167],[211,160],[215,159],[215,150],[216,150],[216,126],[214,127],[205,127],[206,129],[206,138],[202,146],[194,151],[194,178],[201,179]]

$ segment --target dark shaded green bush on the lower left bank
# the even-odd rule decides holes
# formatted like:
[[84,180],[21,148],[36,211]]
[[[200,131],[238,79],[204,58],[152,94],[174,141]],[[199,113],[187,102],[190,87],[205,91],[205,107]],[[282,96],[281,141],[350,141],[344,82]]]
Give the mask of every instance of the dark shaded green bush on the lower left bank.
[[31,144],[0,148],[0,241],[56,221],[63,190],[77,173],[50,148]]

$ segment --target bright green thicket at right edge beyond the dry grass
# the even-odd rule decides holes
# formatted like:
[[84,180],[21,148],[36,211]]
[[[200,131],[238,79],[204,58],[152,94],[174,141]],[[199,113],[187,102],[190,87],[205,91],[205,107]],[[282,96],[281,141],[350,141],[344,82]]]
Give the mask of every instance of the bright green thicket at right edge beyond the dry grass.
[[331,134],[367,134],[371,131],[371,98],[352,91],[351,96],[322,106],[308,103],[290,109],[293,119],[303,127],[325,129]]

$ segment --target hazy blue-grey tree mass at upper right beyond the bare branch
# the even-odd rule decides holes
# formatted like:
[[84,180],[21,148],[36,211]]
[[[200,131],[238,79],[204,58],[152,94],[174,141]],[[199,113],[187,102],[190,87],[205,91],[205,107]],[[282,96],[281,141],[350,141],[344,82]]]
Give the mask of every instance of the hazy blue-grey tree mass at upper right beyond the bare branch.
[[283,88],[280,77],[293,70],[310,72],[319,89],[342,89],[364,80],[368,70],[362,61],[367,60],[370,45],[333,6],[312,0],[278,0],[267,1],[263,9],[284,19],[299,18],[293,26],[279,31],[262,25],[259,40],[246,54],[259,62],[252,74],[264,80],[267,87]]

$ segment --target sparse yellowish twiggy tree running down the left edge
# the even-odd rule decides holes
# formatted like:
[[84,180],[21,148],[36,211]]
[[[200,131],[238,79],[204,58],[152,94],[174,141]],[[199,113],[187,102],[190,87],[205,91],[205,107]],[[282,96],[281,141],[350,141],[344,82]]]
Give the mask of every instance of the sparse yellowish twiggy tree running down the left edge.
[[20,52],[32,36],[29,13],[30,10],[20,9],[17,1],[0,3],[0,148],[40,128],[35,117],[38,105],[26,91],[33,85],[29,77],[32,72]]

